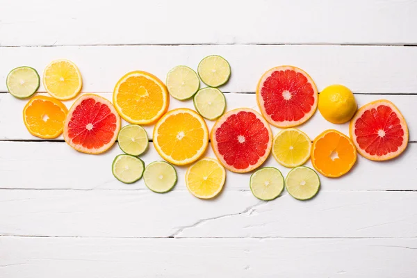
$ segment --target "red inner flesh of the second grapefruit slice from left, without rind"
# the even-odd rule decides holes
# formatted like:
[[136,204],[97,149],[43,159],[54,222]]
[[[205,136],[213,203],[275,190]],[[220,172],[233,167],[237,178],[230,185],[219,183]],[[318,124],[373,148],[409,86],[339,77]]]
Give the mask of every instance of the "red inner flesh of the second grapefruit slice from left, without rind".
[[215,131],[218,152],[228,165],[246,169],[265,155],[270,134],[252,112],[240,111],[227,117]]

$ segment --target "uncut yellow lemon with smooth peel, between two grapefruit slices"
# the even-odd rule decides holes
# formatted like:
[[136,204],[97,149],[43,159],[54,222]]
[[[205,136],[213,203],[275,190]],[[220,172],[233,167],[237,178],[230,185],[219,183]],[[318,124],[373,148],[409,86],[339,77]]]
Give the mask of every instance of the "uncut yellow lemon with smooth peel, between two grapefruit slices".
[[352,119],[357,103],[349,88],[343,85],[329,85],[318,95],[318,111],[333,124],[343,124]]

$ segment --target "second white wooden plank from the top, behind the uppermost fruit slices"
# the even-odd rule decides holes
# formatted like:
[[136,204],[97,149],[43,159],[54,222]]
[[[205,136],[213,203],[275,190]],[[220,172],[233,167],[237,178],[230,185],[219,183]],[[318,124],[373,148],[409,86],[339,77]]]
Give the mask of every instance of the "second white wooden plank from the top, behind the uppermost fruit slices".
[[[37,6],[42,7],[38,2]],[[31,13],[36,18],[42,18],[33,10]],[[49,24],[51,19],[45,18],[48,18]],[[113,20],[111,22],[113,24]],[[350,20],[349,24],[352,22],[354,20]],[[272,33],[275,38],[279,37],[277,33]],[[35,34],[38,37],[39,33]],[[85,35],[90,36],[91,33],[85,32]],[[22,35],[18,37],[22,38]],[[302,38],[298,32],[297,37]],[[341,83],[358,93],[417,92],[417,47],[306,45],[0,47],[0,92],[7,91],[6,76],[14,67],[29,65],[42,75],[44,67],[57,58],[68,58],[79,66],[84,92],[113,92],[115,83],[126,72],[145,70],[165,81],[172,67],[188,65],[196,69],[199,61],[211,54],[223,56],[231,65],[232,76],[229,83],[222,87],[224,92],[254,92],[262,74],[278,65],[295,65],[306,70],[319,90]],[[40,91],[43,90],[41,85]]]

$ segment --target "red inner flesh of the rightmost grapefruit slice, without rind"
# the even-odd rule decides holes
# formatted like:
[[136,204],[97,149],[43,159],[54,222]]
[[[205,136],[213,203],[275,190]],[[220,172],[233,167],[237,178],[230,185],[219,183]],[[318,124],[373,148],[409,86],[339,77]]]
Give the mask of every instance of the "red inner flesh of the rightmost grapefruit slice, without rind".
[[354,123],[354,134],[359,147],[372,156],[397,152],[404,141],[400,118],[385,105],[363,112]]

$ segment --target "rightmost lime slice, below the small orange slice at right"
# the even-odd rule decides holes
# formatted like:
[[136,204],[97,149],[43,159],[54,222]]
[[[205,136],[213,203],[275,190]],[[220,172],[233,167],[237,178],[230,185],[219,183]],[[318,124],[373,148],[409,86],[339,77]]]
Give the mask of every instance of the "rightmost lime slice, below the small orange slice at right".
[[295,199],[311,199],[318,193],[320,179],[318,174],[309,167],[295,167],[288,172],[285,187]]

